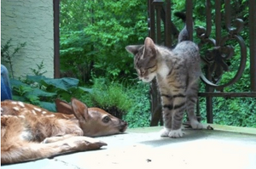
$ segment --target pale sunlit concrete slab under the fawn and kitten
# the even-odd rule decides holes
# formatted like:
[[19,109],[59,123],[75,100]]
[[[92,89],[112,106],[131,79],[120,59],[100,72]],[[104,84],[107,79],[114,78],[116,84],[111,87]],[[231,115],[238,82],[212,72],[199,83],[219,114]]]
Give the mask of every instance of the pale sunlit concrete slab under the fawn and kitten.
[[108,143],[100,150],[1,168],[256,168],[256,128],[211,126],[214,130],[184,129],[183,138],[160,138],[161,127],[129,129],[100,138]]

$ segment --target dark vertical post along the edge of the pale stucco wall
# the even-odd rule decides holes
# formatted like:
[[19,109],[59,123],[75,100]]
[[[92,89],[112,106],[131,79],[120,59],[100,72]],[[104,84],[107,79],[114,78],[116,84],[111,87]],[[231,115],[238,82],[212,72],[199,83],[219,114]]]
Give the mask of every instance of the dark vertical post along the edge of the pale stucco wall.
[[54,6],[54,77],[60,78],[60,0],[53,0]]

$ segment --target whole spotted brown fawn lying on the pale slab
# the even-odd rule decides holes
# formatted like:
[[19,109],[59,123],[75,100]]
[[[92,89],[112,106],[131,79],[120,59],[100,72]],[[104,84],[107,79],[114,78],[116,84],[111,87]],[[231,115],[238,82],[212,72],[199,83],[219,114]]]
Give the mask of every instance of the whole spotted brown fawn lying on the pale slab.
[[[125,132],[127,123],[78,99],[56,100],[52,113],[32,104],[1,102],[1,164],[32,161],[107,145],[96,136]],[[62,113],[63,111],[63,113]]]

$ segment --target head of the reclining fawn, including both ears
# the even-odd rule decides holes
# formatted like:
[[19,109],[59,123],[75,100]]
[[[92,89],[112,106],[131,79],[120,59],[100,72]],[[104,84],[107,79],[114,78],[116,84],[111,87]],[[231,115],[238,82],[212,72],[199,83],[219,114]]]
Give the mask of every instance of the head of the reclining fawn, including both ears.
[[125,132],[127,123],[119,118],[108,114],[99,108],[87,108],[78,99],[72,99],[67,104],[59,99],[56,100],[58,112],[73,114],[79,120],[79,126],[84,131],[84,136],[97,137]]

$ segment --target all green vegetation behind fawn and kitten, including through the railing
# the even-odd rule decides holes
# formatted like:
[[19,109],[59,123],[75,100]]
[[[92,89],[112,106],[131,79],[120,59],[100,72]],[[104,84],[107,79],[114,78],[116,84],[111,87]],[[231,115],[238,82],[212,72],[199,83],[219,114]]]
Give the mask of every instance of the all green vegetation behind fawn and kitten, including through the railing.
[[[194,2],[195,27],[205,26],[205,1]],[[241,36],[248,44],[247,1],[236,0],[231,3],[232,16],[245,22]],[[172,13],[183,11],[184,8],[185,1],[172,1]],[[212,15],[214,19],[213,10]],[[175,16],[172,19],[181,30],[181,20]],[[32,70],[36,76],[27,76],[22,82],[12,80],[15,99],[55,110],[51,103],[56,97],[67,101],[76,97],[88,106],[98,106],[123,118],[130,127],[148,127],[149,86],[138,81],[133,58],[125,51],[125,46],[143,43],[148,36],[146,1],[61,0],[60,22],[62,78],[55,80],[44,77],[42,63],[38,65],[38,70]],[[199,42],[197,37],[194,40]],[[235,47],[235,55],[230,59],[230,71],[224,74],[221,82],[229,82],[240,62],[239,45],[235,41],[230,44]],[[201,82],[203,90],[204,84]],[[241,80],[225,87],[224,91],[250,91],[249,57]],[[214,98],[213,103],[214,123],[256,127],[255,99]],[[204,98],[200,98],[200,111],[202,121],[206,122]]]

